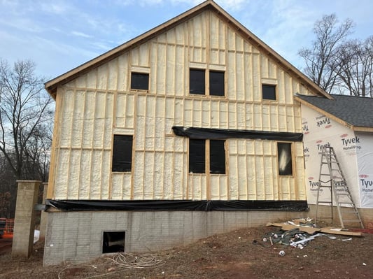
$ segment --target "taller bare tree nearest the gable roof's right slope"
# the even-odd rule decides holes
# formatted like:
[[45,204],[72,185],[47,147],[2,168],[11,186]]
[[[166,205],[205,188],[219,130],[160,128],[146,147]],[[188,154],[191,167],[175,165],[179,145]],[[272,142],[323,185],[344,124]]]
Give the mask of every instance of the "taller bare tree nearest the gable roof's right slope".
[[349,19],[337,25],[337,16],[324,15],[314,25],[316,40],[311,48],[303,48],[298,55],[304,59],[304,72],[326,92],[332,92],[337,84],[339,46],[351,34],[353,22]]

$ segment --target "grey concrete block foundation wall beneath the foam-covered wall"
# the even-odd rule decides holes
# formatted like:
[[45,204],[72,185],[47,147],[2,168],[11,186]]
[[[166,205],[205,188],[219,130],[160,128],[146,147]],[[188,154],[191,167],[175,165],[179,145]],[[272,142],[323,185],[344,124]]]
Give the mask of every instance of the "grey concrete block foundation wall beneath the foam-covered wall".
[[307,217],[281,211],[97,211],[48,213],[44,265],[101,257],[104,231],[125,231],[125,252],[149,252],[267,222]]

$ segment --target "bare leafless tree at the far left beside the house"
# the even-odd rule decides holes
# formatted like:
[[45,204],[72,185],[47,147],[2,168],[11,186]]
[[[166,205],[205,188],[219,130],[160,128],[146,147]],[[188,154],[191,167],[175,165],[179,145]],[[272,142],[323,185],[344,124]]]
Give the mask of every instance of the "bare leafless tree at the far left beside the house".
[[[30,162],[45,164],[45,157],[36,153],[45,137],[43,126],[52,120],[50,96],[34,69],[28,60],[15,62],[13,68],[0,60],[0,151],[17,180],[41,179],[40,173],[27,169],[35,168]],[[49,144],[45,138],[44,143]]]

